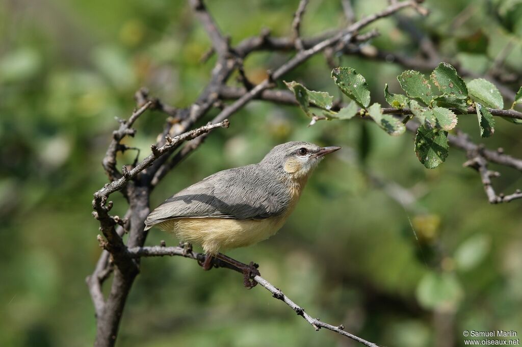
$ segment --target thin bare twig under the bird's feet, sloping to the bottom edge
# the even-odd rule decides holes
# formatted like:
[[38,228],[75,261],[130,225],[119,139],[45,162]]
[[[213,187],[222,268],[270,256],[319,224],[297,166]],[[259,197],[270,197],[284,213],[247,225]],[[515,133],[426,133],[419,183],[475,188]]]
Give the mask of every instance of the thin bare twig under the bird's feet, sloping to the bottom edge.
[[[192,252],[192,249],[188,250],[183,247],[164,247],[164,246],[152,246],[152,247],[134,247],[129,248],[127,250],[128,254],[132,258],[139,258],[139,257],[162,257],[162,256],[182,256],[185,258],[191,258],[198,260],[199,262],[205,261],[206,255],[201,253],[195,253]],[[228,268],[234,271],[241,272],[240,269],[234,267],[233,265],[230,265],[226,262],[223,262],[219,259],[213,259],[212,264],[214,267],[224,267]],[[245,264],[246,266],[246,264]],[[335,331],[343,336],[346,336],[352,340],[355,340],[357,342],[360,342],[366,346],[369,347],[378,347],[377,344],[366,341],[358,336],[355,336],[354,334],[351,334],[347,331],[345,331],[345,327],[340,326],[334,326],[331,324],[327,324],[317,318],[312,318],[309,314],[307,314],[301,306],[294,303],[288,296],[284,295],[283,292],[276,288],[273,284],[265,280],[261,276],[255,276],[254,280],[259,283],[263,288],[268,290],[270,293],[272,293],[272,296],[276,299],[281,300],[285,304],[287,304],[290,308],[292,308],[299,316],[303,317],[307,322],[314,327],[314,329],[317,331],[321,328],[325,328],[331,331]]]

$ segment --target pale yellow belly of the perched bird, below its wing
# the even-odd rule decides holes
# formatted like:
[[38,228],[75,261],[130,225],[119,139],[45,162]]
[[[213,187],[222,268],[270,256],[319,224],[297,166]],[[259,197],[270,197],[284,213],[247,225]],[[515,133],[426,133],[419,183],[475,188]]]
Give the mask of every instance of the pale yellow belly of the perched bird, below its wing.
[[158,226],[174,232],[182,241],[199,244],[207,254],[250,246],[274,235],[284,218],[266,220],[235,220],[226,218],[179,218]]

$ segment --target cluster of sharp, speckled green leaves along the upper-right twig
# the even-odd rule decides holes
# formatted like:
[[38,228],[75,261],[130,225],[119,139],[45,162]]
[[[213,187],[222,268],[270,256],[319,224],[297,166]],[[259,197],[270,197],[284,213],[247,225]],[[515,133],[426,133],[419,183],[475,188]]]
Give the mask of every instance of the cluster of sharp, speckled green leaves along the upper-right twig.
[[[311,117],[317,117],[318,109],[323,118],[351,119],[356,115],[370,117],[386,133],[402,135],[405,124],[417,118],[420,126],[415,137],[415,154],[428,169],[433,169],[448,156],[448,131],[457,125],[457,114],[467,114],[468,107],[477,113],[481,137],[490,137],[495,131],[495,120],[490,109],[503,109],[504,101],[500,91],[483,78],[465,82],[457,70],[448,63],[440,63],[426,78],[419,71],[406,70],[397,80],[405,94],[395,94],[384,86],[386,102],[401,113],[402,109],[411,111],[402,121],[392,114],[383,113],[381,104],[370,105],[370,89],[366,79],[351,67],[337,67],[331,71],[337,87],[350,102],[339,111],[333,111],[334,98],[327,92],[309,90],[298,82],[285,82],[295,94],[301,109]],[[513,107],[522,103],[522,87],[516,94]],[[506,118],[519,124],[518,119]]]

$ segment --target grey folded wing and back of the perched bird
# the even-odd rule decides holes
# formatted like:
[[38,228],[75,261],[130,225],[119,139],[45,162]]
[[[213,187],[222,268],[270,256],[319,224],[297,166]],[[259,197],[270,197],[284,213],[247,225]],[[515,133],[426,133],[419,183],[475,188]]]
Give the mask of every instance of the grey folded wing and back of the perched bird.
[[145,224],[175,218],[262,220],[286,209],[288,189],[263,169],[248,165],[213,174],[165,200]]

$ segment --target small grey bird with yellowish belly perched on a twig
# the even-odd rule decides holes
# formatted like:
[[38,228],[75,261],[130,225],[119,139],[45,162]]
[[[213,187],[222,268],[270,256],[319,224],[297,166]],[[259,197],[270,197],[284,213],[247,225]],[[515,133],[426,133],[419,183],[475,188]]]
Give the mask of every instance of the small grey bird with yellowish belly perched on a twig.
[[319,147],[291,141],[272,148],[263,160],[210,175],[174,194],[145,220],[145,230],[157,225],[183,242],[198,244],[206,254],[239,268],[244,285],[259,274],[257,264],[234,260],[221,252],[245,247],[274,235],[290,216],[313,169],[341,147]]

